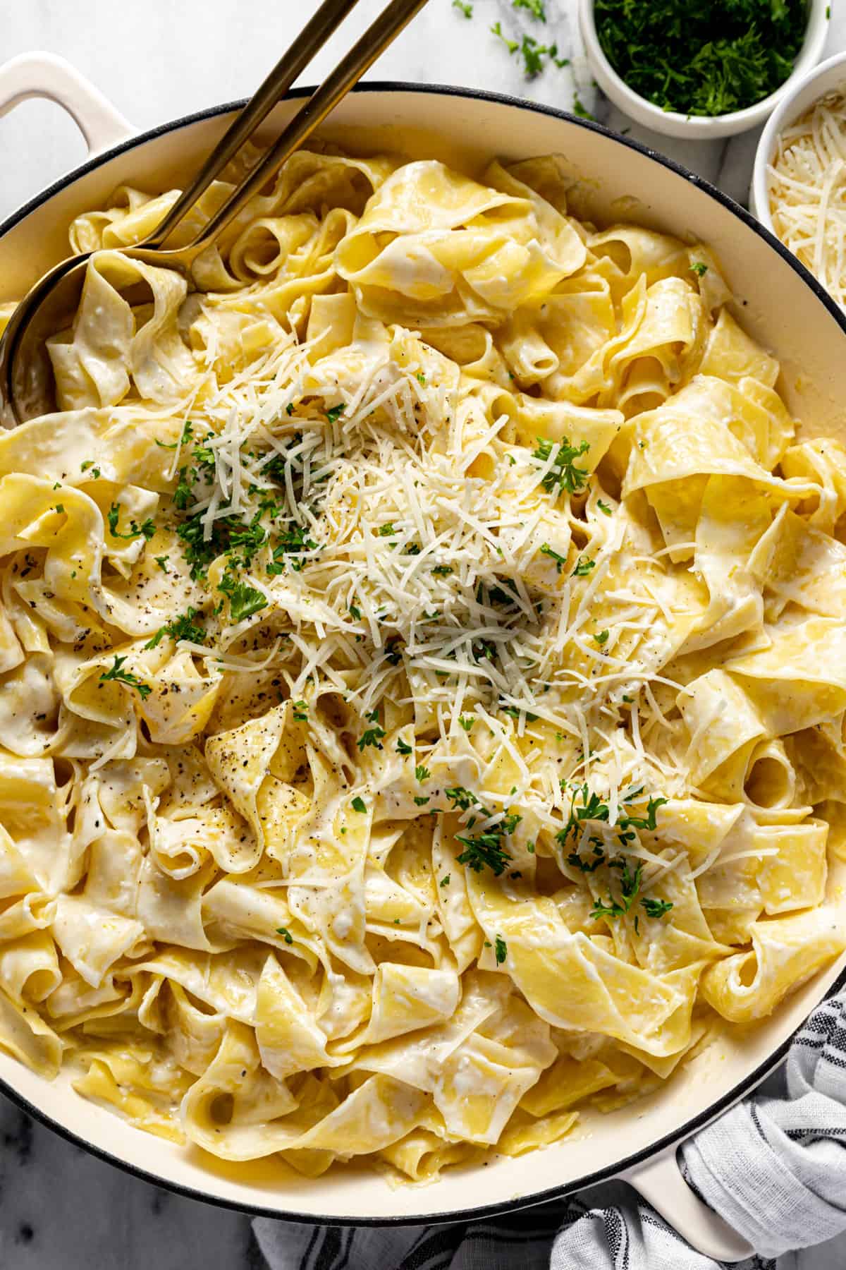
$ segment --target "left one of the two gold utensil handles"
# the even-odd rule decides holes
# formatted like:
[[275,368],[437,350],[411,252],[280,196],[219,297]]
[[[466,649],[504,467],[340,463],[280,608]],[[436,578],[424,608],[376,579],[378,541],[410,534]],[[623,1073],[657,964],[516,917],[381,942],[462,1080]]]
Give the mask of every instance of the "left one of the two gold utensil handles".
[[252,136],[274,105],[282,100],[297,76],[304,71],[315,53],[323,47],[356,4],[358,0],[323,0],[290,48],[283,53],[256,93],[238,112],[190,185],[183,190],[165,218],[140,245],[161,246],[194,203],[205,193],[214,178],[235,157],[244,142]]

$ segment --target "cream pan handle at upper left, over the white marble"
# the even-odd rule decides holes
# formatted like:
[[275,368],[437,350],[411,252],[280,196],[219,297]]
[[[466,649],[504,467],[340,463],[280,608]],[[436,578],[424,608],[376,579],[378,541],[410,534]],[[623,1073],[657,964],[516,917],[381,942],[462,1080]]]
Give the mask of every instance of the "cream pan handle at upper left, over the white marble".
[[0,116],[32,97],[48,98],[67,110],[85,137],[89,155],[136,132],[90,80],[56,53],[20,53],[0,66]]

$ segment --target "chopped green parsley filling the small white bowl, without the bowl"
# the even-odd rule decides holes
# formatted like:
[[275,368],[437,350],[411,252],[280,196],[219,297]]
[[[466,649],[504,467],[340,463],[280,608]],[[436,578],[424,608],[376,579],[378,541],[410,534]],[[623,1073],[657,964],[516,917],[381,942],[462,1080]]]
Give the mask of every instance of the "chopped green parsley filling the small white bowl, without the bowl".
[[679,114],[742,110],[784,84],[808,25],[804,0],[596,0],[596,33],[616,74]]

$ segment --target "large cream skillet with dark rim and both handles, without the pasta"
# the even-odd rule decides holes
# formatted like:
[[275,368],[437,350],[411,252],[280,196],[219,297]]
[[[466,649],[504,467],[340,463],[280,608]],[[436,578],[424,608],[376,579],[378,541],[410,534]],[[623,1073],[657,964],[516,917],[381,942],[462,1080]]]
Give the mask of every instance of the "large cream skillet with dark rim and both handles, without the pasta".
[[[28,97],[52,98],[68,110],[90,159],[0,226],[0,301],[23,295],[63,257],[68,222],[103,204],[117,185],[157,190],[181,184],[235,109],[221,105],[136,133],[91,84],[49,53],[24,55],[0,67],[0,113]],[[289,102],[279,105],[270,130],[280,128],[292,113]],[[803,433],[846,436],[846,318],[771,235],[698,177],[583,119],[450,88],[368,84],[344,100],[322,135],[354,152],[403,150],[471,169],[492,154],[506,160],[563,155],[576,198],[586,199],[597,218],[634,220],[710,243],[743,325],[781,359],[784,391]],[[846,867],[841,874],[838,881],[846,884]],[[846,885],[840,893],[846,894]],[[752,1090],[781,1060],[809,1011],[843,983],[846,958],[804,984],[775,1017],[712,1045],[658,1093],[587,1118],[576,1137],[545,1151],[452,1171],[425,1187],[391,1189],[355,1167],[316,1181],[273,1161],[235,1168],[133,1129],[74,1093],[66,1077],[48,1083],[1,1052],[0,1088],[95,1154],[225,1206],[307,1222],[449,1222],[621,1176],[695,1247],[732,1261],[752,1250],[685,1185],[677,1147]]]

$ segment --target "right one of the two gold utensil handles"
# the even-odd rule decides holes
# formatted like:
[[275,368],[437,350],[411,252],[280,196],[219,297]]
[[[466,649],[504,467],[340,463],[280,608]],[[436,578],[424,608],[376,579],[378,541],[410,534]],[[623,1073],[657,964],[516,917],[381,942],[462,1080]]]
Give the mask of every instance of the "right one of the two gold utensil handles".
[[408,25],[415,14],[425,4],[426,0],[392,0],[382,10],[346,57],[342,58],[331,75],[315,91],[313,97],[294,116],[264,159],[256,164],[242,184],[230,194],[223,206],[212,216],[208,225],[194,239],[192,246],[212,241],[228,225],[232,217],[237,216],[244,204],[257,194],[261,187],[275,175],[285,159],[290,157],[294,150],[302,145],[306,137],[311,136],[341,98],[346,97],[353,85],[358,83],[361,75],[384,52],[388,44],[396,39],[400,32]]

